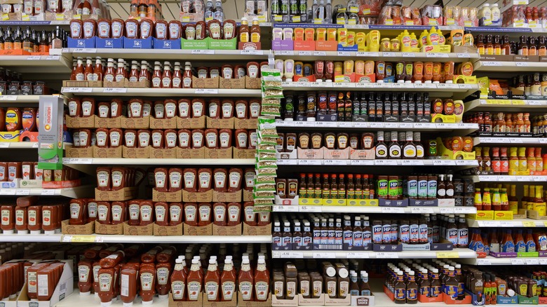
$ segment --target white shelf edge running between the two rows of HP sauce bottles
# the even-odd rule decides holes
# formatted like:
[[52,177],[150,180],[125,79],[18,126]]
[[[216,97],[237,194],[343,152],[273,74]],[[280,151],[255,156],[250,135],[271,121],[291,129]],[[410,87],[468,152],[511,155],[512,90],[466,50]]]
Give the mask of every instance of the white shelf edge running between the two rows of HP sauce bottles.
[[327,206],[327,205],[274,205],[274,212],[330,212],[330,213],[477,213],[475,207],[378,207],[378,206]]

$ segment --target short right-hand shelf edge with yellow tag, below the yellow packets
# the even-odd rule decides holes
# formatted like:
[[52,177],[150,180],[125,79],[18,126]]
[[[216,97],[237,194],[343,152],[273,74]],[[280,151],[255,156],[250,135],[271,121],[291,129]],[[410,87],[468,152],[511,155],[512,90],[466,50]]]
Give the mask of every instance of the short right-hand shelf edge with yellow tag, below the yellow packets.
[[521,109],[543,109],[547,100],[485,100],[475,99],[464,103],[466,111],[521,111]]

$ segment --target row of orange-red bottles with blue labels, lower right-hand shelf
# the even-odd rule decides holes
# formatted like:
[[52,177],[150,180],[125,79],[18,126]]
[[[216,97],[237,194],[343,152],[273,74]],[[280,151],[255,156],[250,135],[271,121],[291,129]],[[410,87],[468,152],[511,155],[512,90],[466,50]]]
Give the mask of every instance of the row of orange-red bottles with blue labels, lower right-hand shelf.
[[547,250],[545,231],[532,231],[532,229],[519,228],[471,228],[470,232],[469,248],[475,252],[487,255],[500,252],[518,253]]

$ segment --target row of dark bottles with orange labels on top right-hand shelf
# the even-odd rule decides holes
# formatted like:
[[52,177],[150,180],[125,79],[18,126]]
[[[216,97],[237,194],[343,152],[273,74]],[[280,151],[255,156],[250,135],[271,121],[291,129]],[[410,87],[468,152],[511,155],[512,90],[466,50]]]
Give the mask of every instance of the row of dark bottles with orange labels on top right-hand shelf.
[[508,35],[478,34],[475,46],[480,55],[547,55],[545,36],[520,36],[518,42],[509,41]]

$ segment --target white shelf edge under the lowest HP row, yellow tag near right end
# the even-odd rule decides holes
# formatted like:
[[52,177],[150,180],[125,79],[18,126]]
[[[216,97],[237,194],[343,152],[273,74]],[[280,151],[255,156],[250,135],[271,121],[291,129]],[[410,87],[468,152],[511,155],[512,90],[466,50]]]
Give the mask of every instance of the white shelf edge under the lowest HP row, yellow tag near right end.
[[376,258],[376,259],[436,259],[436,258],[472,258],[477,256],[475,251],[467,248],[455,248],[447,251],[404,251],[404,252],[372,252],[372,251],[334,251],[334,250],[272,250],[273,259],[357,259],[357,258]]

